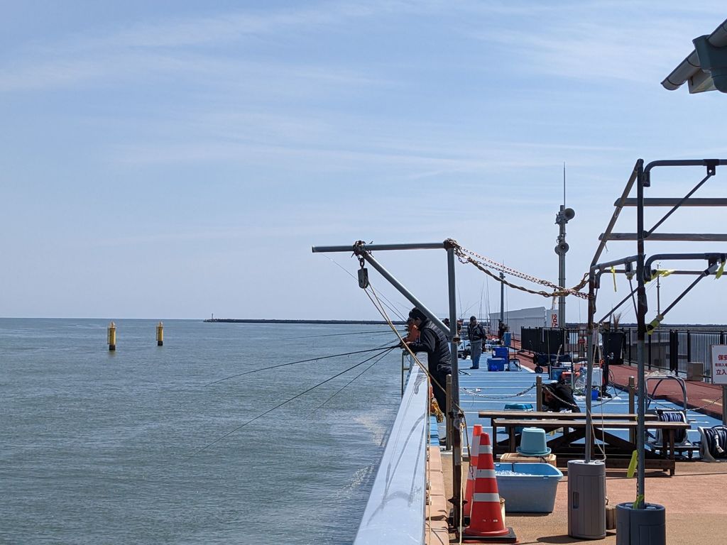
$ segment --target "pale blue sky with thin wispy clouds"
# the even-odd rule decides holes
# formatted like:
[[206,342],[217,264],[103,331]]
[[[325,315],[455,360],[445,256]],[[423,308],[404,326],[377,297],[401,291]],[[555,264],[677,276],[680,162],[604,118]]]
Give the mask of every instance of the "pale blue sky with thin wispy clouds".
[[[358,240],[454,238],[555,282],[564,164],[573,286],[635,161],[727,158],[727,97],[660,85],[726,19],[722,1],[29,0],[3,12],[4,317],[380,319],[350,253],[311,252]],[[676,170],[647,196],[704,177]],[[725,196],[726,175],[695,196]],[[718,209],[687,209],[663,232],[721,225]],[[632,210],[616,231],[635,231]],[[602,259],[635,253],[611,242]],[[443,251],[374,257],[445,315]],[[704,264],[662,264],[675,267]],[[456,274],[460,314],[499,312],[494,280]],[[370,276],[398,314],[411,307]],[[662,309],[686,278],[661,281]],[[727,323],[726,285],[702,280],[665,321]],[[628,290],[604,282],[597,318]],[[505,293],[505,310],[551,304]],[[586,313],[566,302],[568,321]]]

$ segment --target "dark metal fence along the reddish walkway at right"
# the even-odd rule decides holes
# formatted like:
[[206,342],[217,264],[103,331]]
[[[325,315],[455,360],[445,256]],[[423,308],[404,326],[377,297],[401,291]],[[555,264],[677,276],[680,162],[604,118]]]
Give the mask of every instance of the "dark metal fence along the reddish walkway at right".
[[[624,363],[636,365],[638,334],[635,327],[619,328],[624,334]],[[523,350],[545,354],[586,355],[587,330],[578,328],[522,328]],[[687,374],[688,363],[702,363],[702,379],[712,382],[711,347],[726,344],[726,331],[718,328],[670,329],[646,336],[645,365],[647,369],[664,369],[677,375]],[[699,378],[699,376],[695,377]]]

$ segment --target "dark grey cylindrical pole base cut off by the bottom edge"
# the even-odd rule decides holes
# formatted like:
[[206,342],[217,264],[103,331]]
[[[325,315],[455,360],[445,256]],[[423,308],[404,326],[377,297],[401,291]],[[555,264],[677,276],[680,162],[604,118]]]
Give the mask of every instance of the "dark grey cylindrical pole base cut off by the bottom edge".
[[664,506],[644,504],[633,509],[632,504],[616,505],[616,545],[666,545],[667,524]]

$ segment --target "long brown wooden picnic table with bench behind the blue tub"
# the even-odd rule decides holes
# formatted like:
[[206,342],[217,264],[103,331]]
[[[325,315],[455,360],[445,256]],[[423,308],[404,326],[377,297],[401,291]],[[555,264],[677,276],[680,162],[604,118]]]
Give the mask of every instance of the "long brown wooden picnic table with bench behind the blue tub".
[[[512,415],[513,411],[508,411],[510,413],[510,416]],[[521,413],[522,414],[522,413]],[[532,413],[529,413],[532,414]],[[558,416],[562,416],[567,413],[550,413],[551,416],[547,416],[546,418],[541,419],[525,419],[525,418],[518,418],[518,419],[512,419],[512,418],[497,418],[493,417],[491,418],[492,423],[492,435],[493,437],[497,437],[497,428],[504,428],[505,432],[508,435],[507,440],[502,442],[497,442],[493,440],[493,453],[494,454],[502,454],[505,452],[515,452],[516,448],[518,446],[518,433],[517,429],[522,427],[538,427],[541,429],[545,429],[545,431],[550,431],[553,429],[564,429],[563,435],[560,437],[553,437],[550,441],[547,442],[547,446],[555,453],[556,455],[561,454],[576,454],[576,453],[582,453],[583,446],[582,445],[574,445],[573,443],[577,440],[583,439],[585,437],[586,432],[586,421],[585,418],[582,419],[576,419],[572,417],[567,417],[565,419],[558,418]],[[569,413],[574,414],[574,413]],[[579,413],[575,413],[579,414]],[[583,413],[580,413],[583,414]],[[555,417],[552,417],[552,415],[555,415]],[[583,414],[585,417],[585,414]],[[655,416],[655,415],[654,415]],[[660,420],[655,419],[648,419],[644,422],[646,429],[661,429],[662,433],[665,438],[664,446],[666,447],[664,449],[664,456],[656,456],[656,453],[649,453],[650,457],[646,460],[647,461],[647,467],[656,467],[659,469],[669,469],[669,474],[674,475],[675,470],[675,432],[678,429],[690,429],[690,425],[686,422],[664,422]],[[628,458],[631,456],[631,453],[636,450],[635,442],[632,442],[631,440],[625,440],[621,437],[618,437],[612,433],[609,433],[606,431],[606,429],[636,429],[638,427],[638,422],[629,419],[624,418],[623,415],[621,415],[619,418],[610,418],[606,419],[605,415],[604,418],[601,418],[601,415],[596,416],[593,418],[592,421],[593,426],[593,437],[594,442],[592,445],[592,456],[596,456],[596,445],[595,440],[600,440],[603,443],[603,449],[606,451],[606,460],[609,459],[613,460],[613,456],[619,456],[623,458]],[[570,430],[570,431],[569,431]],[[622,465],[622,464],[611,464],[611,465]]]

